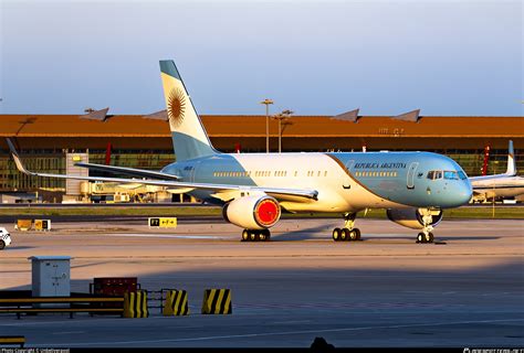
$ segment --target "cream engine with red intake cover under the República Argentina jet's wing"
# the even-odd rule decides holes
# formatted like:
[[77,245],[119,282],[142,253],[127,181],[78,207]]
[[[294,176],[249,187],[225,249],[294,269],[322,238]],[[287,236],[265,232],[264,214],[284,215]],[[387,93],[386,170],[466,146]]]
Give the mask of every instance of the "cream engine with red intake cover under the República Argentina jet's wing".
[[222,216],[229,223],[245,229],[265,229],[279,222],[279,202],[268,195],[235,199],[222,208]]

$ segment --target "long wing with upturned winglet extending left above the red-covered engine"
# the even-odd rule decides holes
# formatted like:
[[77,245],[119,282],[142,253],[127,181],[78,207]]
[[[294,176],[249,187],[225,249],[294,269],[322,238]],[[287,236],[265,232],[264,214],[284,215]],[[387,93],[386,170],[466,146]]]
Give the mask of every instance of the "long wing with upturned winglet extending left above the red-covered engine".
[[[111,178],[111,176],[81,176],[81,175],[67,175],[67,174],[50,174],[50,173],[36,173],[29,171],[23,165],[20,156],[18,154],[14,146],[10,139],[7,139],[11,156],[14,159],[14,163],[19,171],[27,175],[43,176],[43,178],[60,178],[60,179],[75,179],[86,181],[102,181],[102,182],[117,182],[117,183],[140,183],[145,185],[158,185],[171,189],[188,189],[188,190],[210,190],[217,193],[227,193],[228,191],[239,192],[263,192],[274,196],[275,199],[289,199],[297,197],[302,200],[317,200],[318,192],[316,190],[305,189],[285,189],[285,188],[265,188],[265,186],[251,186],[251,185],[229,185],[229,184],[210,184],[210,183],[192,183],[192,182],[179,182],[171,180],[153,180],[153,179],[126,179],[126,178]],[[98,164],[99,165],[99,164]],[[133,168],[129,168],[133,170]],[[161,173],[165,175],[164,173]]]

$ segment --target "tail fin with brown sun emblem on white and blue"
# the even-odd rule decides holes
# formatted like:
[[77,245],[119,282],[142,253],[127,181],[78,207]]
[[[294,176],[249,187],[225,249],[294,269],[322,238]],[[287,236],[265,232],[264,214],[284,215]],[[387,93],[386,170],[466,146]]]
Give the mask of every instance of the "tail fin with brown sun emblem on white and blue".
[[172,60],[160,61],[160,76],[177,161],[217,153]]

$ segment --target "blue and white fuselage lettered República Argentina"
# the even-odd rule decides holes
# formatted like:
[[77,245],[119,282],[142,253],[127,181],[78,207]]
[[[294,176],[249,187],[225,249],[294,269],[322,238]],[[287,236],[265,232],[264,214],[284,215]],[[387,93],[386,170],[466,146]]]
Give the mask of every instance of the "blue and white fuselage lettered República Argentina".
[[[455,179],[428,179],[449,171]],[[356,212],[367,207],[457,207],[471,196],[462,169],[430,152],[218,153],[171,163],[163,172],[182,181],[318,191],[317,200],[281,201],[291,212]],[[216,203],[213,192],[190,191]]]

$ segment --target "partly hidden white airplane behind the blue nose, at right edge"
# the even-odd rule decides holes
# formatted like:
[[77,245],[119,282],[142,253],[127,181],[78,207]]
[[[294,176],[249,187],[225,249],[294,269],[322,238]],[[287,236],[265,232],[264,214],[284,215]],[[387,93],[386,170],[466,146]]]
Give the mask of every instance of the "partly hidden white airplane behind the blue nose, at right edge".
[[507,168],[505,173],[470,176],[470,182],[473,188],[473,202],[497,197],[515,197],[524,194],[524,178],[516,175],[513,141],[510,140],[507,147]]

